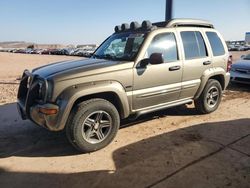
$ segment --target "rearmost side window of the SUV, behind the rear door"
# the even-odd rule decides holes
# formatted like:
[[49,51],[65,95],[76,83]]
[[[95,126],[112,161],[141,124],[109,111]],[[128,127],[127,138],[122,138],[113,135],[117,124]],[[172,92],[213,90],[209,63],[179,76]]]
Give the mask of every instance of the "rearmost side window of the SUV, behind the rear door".
[[221,56],[225,54],[224,46],[221,42],[220,37],[215,32],[206,32],[207,38],[210,42],[213,55],[214,56]]

